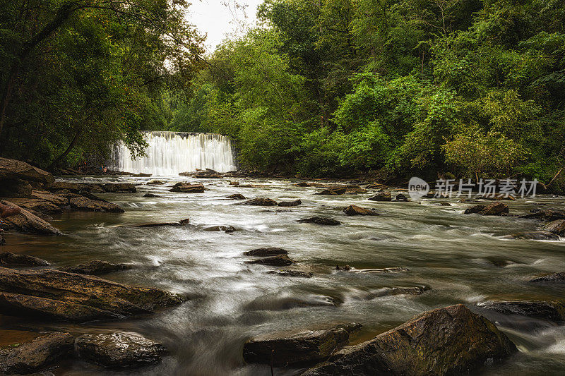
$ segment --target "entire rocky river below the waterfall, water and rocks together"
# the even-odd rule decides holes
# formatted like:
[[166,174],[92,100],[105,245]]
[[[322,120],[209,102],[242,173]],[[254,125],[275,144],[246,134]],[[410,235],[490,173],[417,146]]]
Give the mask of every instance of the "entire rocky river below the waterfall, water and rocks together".
[[565,198],[186,175],[1,198],[2,372],[565,372]]

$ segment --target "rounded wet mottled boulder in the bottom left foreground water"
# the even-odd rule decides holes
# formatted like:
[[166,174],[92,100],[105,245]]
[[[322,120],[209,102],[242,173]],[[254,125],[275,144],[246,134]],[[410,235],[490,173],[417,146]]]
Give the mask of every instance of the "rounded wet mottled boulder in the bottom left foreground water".
[[79,356],[105,367],[141,367],[159,363],[162,344],[137,333],[83,334],[75,341]]

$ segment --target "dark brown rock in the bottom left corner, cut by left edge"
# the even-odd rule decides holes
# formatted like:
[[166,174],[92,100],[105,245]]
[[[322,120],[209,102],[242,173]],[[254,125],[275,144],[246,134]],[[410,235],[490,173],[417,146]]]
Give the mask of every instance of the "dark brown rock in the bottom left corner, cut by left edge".
[[69,333],[44,333],[23,344],[0,348],[0,371],[5,375],[40,372],[73,351]]

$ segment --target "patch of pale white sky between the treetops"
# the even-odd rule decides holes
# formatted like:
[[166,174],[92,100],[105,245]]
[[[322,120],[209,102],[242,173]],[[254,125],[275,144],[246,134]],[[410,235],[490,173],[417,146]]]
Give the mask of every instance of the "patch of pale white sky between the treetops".
[[[242,25],[256,21],[257,6],[263,0],[192,0],[186,20],[201,33],[208,33],[206,39],[207,52],[215,47],[227,35],[237,34]],[[246,5],[245,10],[237,4]]]

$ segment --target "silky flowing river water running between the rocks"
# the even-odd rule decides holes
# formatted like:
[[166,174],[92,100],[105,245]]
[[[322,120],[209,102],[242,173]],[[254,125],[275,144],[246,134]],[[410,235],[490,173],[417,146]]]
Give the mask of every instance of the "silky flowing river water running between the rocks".
[[[106,178],[105,181],[109,179]],[[564,299],[565,289],[533,286],[535,274],[565,270],[565,241],[505,240],[516,231],[535,229],[536,222],[515,217],[465,215],[469,204],[456,199],[415,202],[371,202],[369,194],[321,196],[319,188],[299,188],[292,181],[239,179],[256,188],[230,186],[227,179],[165,178],[166,186],[148,186],[150,178],[118,178],[138,183],[138,193],[107,194],[124,214],[73,212],[54,219],[66,234],[38,237],[8,234],[3,250],[42,257],[54,267],[95,258],[130,262],[136,269],[107,279],[157,286],[191,296],[191,301],[155,315],[119,322],[59,325],[74,333],[125,330],[161,341],[171,351],[162,363],[141,370],[102,370],[69,360],[57,375],[270,375],[270,368],[245,365],[242,346],[256,334],[295,332],[359,322],[364,341],[433,308],[489,299]],[[180,180],[205,183],[202,194],[171,193]],[[91,178],[88,181],[97,181]],[[144,193],[160,198],[143,198]],[[292,208],[234,205],[227,195],[248,198],[301,199]],[[393,193],[396,193],[393,190]],[[520,214],[546,204],[564,207],[564,199],[537,197],[509,202]],[[343,207],[375,208],[377,217],[347,217]],[[340,226],[299,224],[313,215],[333,217]],[[173,222],[182,227],[132,228],[124,224]],[[203,231],[229,224],[232,234]],[[311,279],[267,274],[272,267],[249,265],[242,253],[259,247],[283,247],[297,260],[295,269]],[[335,265],[351,265],[350,272]],[[408,272],[382,273],[384,267]],[[427,286],[422,295],[383,296],[385,287]],[[521,350],[484,375],[557,375],[565,373],[565,329],[540,320],[494,317]],[[0,317],[2,327],[49,328],[44,323]],[[51,327],[52,328],[52,327]],[[297,370],[275,370],[294,375]]]

